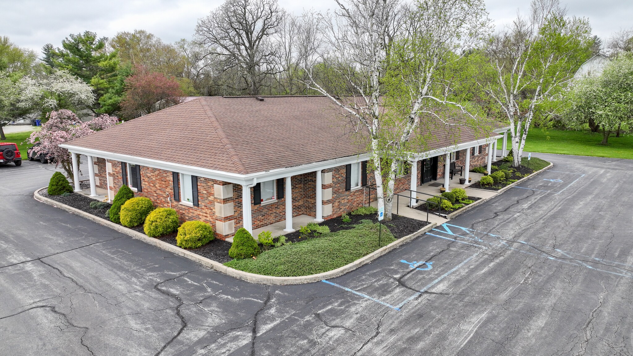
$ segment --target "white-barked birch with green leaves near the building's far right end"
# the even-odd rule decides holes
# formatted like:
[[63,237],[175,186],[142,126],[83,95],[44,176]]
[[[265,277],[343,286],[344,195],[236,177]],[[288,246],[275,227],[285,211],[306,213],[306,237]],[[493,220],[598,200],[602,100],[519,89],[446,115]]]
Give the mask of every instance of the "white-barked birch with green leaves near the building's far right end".
[[591,43],[589,22],[568,18],[558,0],[533,0],[529,17],[492,37],[487,56],[494,74],[483,86],[510,122],[514,167],[535,113],[573,78]]

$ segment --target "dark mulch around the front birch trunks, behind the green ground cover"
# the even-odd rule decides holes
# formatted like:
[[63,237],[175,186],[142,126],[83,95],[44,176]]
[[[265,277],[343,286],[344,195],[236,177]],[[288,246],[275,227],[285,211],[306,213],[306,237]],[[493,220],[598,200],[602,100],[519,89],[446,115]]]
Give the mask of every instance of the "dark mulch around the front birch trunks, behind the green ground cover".
[[[370,215],[351,215],[348,214],[352,219],[351,222],[343,222],[341,217],[335,217],[333,219],[325,220],[319,225],[327,226],[330,228],[330,232],[336,232],[341,230],[349,230],[353,229],[356,224],[360,222],[360,220],[372,220],[372,222],[378,222],[378,217],[375,214]],[[429,225],[428,221],[422,221],[417,219],[411,219],[410,217],[404,217],[402,215],[392,214],[391,221],[382,221],[384,226],[391,231],[394,235],[394,238],[404,238],[404,236],[408,236],[413,234],[422,227]],[[285,235],[285,238],[288,241],[296,242],[303,241],[304,238],[300,238],[299,230],[291,232]]]

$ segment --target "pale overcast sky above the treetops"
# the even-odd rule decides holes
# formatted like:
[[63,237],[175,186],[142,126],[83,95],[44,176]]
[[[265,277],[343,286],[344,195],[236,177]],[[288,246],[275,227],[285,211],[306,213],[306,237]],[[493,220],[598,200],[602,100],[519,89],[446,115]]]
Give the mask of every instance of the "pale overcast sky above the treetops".
[[[0,35],[21,47],[40,51],[47,43],[61,46],[68,34],[85,30],[112,37],[116,32],[143,29],[165,42],[191,39],[198,18],[208,15],[222,0],[0,0]],[[529,0],[486,0],[496,26],[511,22],[517,10],[527,13]],[[603,39],[633,27],[631,0],[569,0],[570,15],[589,18],[594,34]],[[286,10],[325,11],[334,0],[279,0]]]

